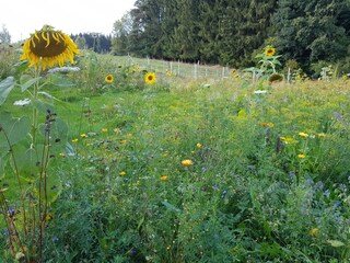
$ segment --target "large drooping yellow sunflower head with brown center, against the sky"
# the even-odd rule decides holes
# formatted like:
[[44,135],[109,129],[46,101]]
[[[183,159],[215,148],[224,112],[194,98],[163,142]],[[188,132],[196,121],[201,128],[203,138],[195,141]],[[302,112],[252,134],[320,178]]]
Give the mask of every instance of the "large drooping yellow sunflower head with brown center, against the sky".
[[62,67],[65,62],[74,62],[74,56],[79,49],[74,42],[61,31],[55,31],[52,26],[44,25],[40,31],[36,31],[23,45],[21,60],[27,59],[30,66],[42,66],[52,68],[58,65]]

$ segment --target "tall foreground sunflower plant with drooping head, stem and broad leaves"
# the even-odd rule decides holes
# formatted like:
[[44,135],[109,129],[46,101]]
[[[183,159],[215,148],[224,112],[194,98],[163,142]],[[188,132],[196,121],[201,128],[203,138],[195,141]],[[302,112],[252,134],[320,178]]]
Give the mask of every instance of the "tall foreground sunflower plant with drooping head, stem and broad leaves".
[[[43,262],[45,229],[51,218],[50,204],[59,194],[59,181],[49,175],[49,164],[55,161],[55,148],[62,142],[67,125],[57,118],[42,91],[54,73],[47,68],[73,62],[79,54],[71,38],[52,26],[45,25],[35,32],[23,46],[23,64],[34,66],[34,73],[22,75],[19,81],[8,77],[0,82],[0,105],[14,88],[26,92],[31,99],[16,101],[18,105],[32,106],[32,116],[0,115],[1,175],[11,182],[0,188],[0,208],[4,217],[10,256],[21,262]],[[44,76],[44,72],[46,73]],[[42,122],[39,113],[46,112]],[[11,178],[13,174],[13,178]]]

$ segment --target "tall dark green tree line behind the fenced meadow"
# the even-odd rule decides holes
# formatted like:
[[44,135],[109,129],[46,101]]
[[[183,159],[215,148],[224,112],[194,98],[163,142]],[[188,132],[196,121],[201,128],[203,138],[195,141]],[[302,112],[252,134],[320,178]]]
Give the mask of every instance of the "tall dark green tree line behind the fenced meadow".
[[[112,52],[234,67],[271,45],[302,65],[349,56],[350,0],[137,0]],[[349,59],[350,60],[350,59]]]

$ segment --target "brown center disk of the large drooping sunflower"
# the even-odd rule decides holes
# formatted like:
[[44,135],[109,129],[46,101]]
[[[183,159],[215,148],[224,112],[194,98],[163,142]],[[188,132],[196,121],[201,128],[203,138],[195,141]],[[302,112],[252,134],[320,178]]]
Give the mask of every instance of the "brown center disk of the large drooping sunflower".
[[[54,38],[51,32],[47,32],[44,34],[45,39],[40,33],[36,36],[32,36],[32,41],[30,44],[32,53],[39,57],[56,57],[65,53],[67,48],[65,41],[60,39],[60,42],[58,42]],[[60,35],[60,38],[63,38],[63,36]]]

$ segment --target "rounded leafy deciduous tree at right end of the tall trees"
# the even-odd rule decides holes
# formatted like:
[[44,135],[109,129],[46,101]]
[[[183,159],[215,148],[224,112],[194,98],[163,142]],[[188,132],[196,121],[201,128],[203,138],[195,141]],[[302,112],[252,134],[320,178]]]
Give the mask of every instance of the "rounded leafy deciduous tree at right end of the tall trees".
[[335,61],[347,55],[349,14],[349,0],[280,0],[273,15],[277,47],[301,64]]

